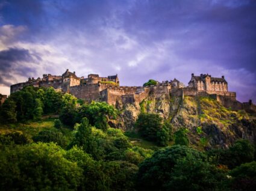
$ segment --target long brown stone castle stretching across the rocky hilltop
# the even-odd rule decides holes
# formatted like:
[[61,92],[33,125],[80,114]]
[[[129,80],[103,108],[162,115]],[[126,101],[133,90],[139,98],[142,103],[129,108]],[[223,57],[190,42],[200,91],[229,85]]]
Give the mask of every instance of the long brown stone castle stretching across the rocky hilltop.
[[[225,77],[211,77],[209,74],[195,76],[192,73],[189,85],[177,79],[157,82],[151,86],[120,86],[116,75],[99,77],[98,74],[89,74],[87,78],[78,77],[74,72],[66,70],[61,76],[43,74],[43,78],[28,78],[27,82],[11,85],[11,93],[19,91],[24,86],[50,87],[69,92],[78,99],[86,102],[92,100],[107,102],[119,106],[125,103],[140,103],[150,94],[155,96],[211,96],[226,107],[243,109],[249,103],[240,103],[236,100],[236,92],[228,91],[228,82]],[[252,104],[251,104],[252,105]]]

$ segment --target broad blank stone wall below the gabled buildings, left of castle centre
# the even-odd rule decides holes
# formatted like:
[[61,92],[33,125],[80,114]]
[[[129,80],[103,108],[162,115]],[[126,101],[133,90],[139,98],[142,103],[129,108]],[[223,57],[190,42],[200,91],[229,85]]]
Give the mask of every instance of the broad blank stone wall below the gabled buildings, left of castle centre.
[[99,100],[99,85],[78,85],[69,87],[69,93],[78,99],[91,102],[92,100]]

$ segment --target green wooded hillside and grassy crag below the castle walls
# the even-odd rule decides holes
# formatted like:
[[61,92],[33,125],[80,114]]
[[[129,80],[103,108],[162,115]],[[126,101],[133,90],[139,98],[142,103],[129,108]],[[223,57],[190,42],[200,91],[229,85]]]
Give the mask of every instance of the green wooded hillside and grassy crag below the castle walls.
[[11,94],[0,108],[0,190],[256,186],[253,114],[207,97],[151,95],[137,109],[123,132],[113,128],[123,111],[107,103],[32,86]]

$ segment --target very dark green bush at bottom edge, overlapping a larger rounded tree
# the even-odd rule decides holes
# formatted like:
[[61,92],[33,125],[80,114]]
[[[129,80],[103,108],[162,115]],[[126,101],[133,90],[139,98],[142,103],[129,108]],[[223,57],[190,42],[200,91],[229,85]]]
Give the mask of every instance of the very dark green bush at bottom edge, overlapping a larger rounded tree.
[[216,166],[189,153],[177,160],[164,190],[226,190],[222,187],[223,180],[226,175]]

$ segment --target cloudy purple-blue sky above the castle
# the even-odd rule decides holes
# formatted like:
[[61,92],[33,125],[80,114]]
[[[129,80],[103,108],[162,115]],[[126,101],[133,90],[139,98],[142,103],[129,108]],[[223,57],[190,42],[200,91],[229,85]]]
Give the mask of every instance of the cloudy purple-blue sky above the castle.
[[67,68],[127,86],[225,76],[256,103],[256,1],[0,0],[0,93]]

